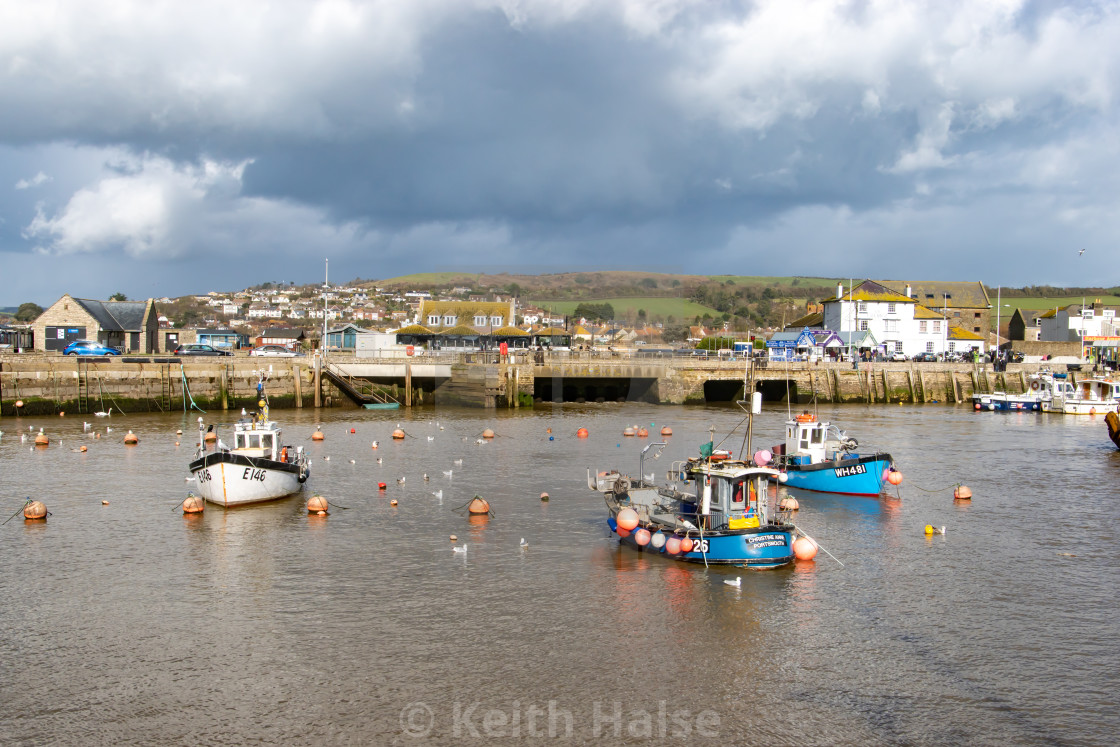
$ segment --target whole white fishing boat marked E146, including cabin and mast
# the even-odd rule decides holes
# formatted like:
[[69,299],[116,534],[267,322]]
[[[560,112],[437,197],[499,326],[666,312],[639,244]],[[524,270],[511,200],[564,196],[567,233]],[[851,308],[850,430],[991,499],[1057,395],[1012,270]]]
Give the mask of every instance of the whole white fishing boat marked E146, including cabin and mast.
[[211,503],[230,507],[282,498],[298,493],[310,473],[304,447],[284,445],[280,427],[269,420],[263,380],[256,390],[261,409],[241,411],[233,427],[233,448],[220,438],[209,450],[198,419],[198,450],[189,469],[198,480],[198,493]]

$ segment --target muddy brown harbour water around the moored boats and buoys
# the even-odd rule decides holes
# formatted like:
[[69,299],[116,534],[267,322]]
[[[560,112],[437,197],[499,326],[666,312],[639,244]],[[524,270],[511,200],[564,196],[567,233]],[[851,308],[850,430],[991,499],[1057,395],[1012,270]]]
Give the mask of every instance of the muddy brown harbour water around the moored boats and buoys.
[[[905,479],[875,499],[797,495],[796,523],[843,566],[821,553],[747,571],[619,548],[586,485],[588,468],[637,473],[648,441],[623,438],[627,424],[673,429],[652,463],[664,475],[710,426],[718,441],[739,423],[732,408],[273,411],[314,460],[304,493],[186,516],[196,414],[93,419],[100,439],[71,415],[0,420],[0,519],[26,496],[52,512],[0,527],[0,743],[1120,735],[1120,452],[1100,419],[822,407]],[[767,405],[755,446],[785,417]],[[48,448],[21,442],[40,427]],[[478,443],[484,428],[497,438]],[[953,502],[959,483],[970,503]],[[312,493],[329,515],[308,515]],[[476,494],[493,517],[457,511]]]

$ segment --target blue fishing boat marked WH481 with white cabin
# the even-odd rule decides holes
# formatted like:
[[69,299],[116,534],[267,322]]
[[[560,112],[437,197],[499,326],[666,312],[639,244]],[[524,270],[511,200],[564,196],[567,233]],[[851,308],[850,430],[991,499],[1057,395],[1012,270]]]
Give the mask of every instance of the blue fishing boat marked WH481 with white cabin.
[[[832,423],[806,412],[785,424],[785,443],[773,447],[773,466],[788,487],[819,493],[878,495],[892,473],[897,485],[902,473],[881,451],[859,452],[859,442]],[[768,461],[768,460],[767,460]]]

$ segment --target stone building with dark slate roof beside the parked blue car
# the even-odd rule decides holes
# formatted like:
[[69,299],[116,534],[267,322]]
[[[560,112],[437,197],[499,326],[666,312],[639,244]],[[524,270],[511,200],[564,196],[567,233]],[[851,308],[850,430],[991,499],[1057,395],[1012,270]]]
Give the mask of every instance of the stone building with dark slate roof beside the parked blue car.
[[96,301],[68,293],[31,324],[35,349],[62,352],[75,339],[94,339],[124,353],[159,352],[159,314],[152,299]]

